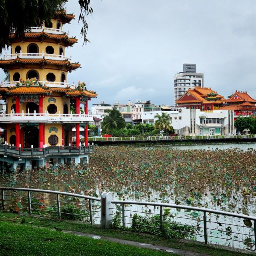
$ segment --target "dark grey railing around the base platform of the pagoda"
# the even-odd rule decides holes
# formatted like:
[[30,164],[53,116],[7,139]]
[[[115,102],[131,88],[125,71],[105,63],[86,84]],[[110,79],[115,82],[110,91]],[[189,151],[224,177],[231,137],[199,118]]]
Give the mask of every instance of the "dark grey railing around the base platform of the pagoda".
[[0,155],[14,156],[17,158],[46,157],[56,155],[83,155],[94,151],[90,146],[46,146],[44,148],[17,148],[7,144],[0,144]]

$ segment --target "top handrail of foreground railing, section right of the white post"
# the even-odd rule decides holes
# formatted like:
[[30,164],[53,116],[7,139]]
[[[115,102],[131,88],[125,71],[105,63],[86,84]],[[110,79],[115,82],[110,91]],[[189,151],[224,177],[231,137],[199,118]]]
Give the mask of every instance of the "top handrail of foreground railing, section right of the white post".
[[163,207],[170,207],[170,208],[176,208],[176,209],[194,210],[194,211],[197,211],[197,212],[208,212],[208,213],[213,213],[213,214],[222,214],[222,215],[225,215],[225,216],[256,221],[256,217],[245,215],[245,214],[238,214],[238,213],[233,213],[233,212],[225,212],[225,211],[220,211],[220,210],[213,210],[213,209],[208,209],[208,208],[200,208],[200,207],[178,205],[178,204],[138,202],[138,201],[122,201],[122,200],[112,200],[111,203],[112,204],[137,204],[137,205],[163,206]]

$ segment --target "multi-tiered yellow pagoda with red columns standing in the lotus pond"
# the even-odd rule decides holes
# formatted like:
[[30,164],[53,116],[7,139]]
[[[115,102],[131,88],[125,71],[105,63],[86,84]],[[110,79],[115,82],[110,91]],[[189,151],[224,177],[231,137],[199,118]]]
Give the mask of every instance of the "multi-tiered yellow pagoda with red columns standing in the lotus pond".
[[[0,96],[6,101],[6,112],[0,115],[4,129],[0,162],[9,162],[12,168],[44,166],[48,160],[88,162],[93,152],[93,146],[88,146],[88,122],[93,121],[88,100],[97,94],[87,90],[84,82],[67,82],[68,72],[80,68],[66,56],[66,48],[77,39],[69,37],[62,26],[72,19],[73,14],[60,10],[47,26],[32,27],[22,37],[10,34],[10,54],[0,59],[0,68],[9,76],[0,85]],[[83,142],[80,126],[84,127]]]

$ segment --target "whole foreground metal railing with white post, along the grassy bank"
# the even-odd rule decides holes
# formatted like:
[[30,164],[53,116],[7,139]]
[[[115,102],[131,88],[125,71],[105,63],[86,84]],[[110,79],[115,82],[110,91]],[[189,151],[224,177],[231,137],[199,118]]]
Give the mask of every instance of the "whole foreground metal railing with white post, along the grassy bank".
[[[58,218],[101,224],[102,228],[110,228],[112,218],[115,217],[119,218],[122,224],[120,227],[130,227],[135,231],[140,227],[153,228],[160,230],[160,234],[177,232],[185,234],[186,238],[198,238],[205,244],[228,244],[232,247],[241,247],[242,244],[250,249],[255,246],[256,217],[254,216],[176,204],[112,200],[112,194],[107,192],[96,198],[31,188],[2,187],[0,190],[2,210],[9,208],[12,212],[16,209],[18,212],[23,210],[28,214],[56,214]],[[135,214],[137,220],[147,219],[151,224],[140,221],[134,223]],[[65,218],[68,215],[73,217]],[[151,218],[152,216],[157,218]],[[222,240],[224,243],[221,242]]]

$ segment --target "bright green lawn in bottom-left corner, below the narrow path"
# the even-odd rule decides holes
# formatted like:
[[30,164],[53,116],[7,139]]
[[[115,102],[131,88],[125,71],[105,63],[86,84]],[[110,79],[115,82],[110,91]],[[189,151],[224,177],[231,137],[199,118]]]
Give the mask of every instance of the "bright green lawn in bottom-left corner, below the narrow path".
[[48,228],[17,225],[7,221],[0,222],[0,234],[0,255],[5,256],[160,256],[167,254],[104,240],[64,234]]

